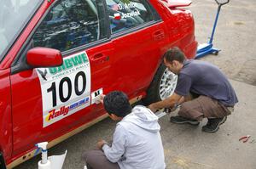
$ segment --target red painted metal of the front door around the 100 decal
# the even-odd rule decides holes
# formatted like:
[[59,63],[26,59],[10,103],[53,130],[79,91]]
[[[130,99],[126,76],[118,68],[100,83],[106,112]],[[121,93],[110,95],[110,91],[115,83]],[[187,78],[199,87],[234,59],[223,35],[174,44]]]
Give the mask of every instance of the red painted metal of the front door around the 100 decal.
[[[90,48],[87,51],[90,58],[93,58],[96,54],[112,55],[112,53],[111,42],[104,43],[96,48]],[[108,92],[107,85],[109,82],[102,78],[108,77],[108,69],[108,62],[91,61],[91,91],[95,91],[105,84],[106,92]],[[100,111],[102,108],[94,109],[97,105],[92,104],[49,127],[43,127],[42,96],[36,70],[22,71],[12,75],[10,79],[13,99],[14,155],[25,152],[26,149],[33,149],[35,144],[44,140],[53,140],[63,133],[84,124],[84,121],[91,121],[96,116],[103,114],[103,111]]]

